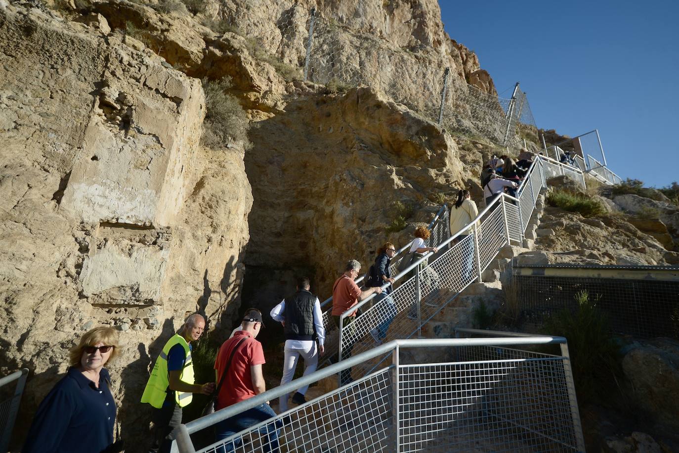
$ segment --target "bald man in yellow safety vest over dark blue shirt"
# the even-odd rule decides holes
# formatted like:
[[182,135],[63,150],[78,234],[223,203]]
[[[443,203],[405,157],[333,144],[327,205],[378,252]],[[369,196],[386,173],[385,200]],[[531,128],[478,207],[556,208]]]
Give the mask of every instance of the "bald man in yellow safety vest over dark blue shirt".
[[170,433],[181,424],[181,408],[191,402],[193,393],[210,395],[215,383],[194,384],[194,364],[191,361],[191,342],[205,329],[203,317],[194,313],[186,319],[181,331],[175,333],[155,359],[151,377],[146,383],[142,403],[153,406],[153,444],[149,453],[168,453]]

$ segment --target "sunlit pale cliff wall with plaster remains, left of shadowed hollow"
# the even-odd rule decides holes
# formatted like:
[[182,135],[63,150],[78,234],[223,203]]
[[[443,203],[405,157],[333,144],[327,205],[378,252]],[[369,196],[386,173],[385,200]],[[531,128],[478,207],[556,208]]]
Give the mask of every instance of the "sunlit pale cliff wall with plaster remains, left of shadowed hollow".
[[114,387],[131,425],[154,340],[187,312],[218,321],[238,308],[243,153],[200,147],[200,81],[100,25],[3,6],[2,373],[31,368],[32,411],[73,341],[115,325]]

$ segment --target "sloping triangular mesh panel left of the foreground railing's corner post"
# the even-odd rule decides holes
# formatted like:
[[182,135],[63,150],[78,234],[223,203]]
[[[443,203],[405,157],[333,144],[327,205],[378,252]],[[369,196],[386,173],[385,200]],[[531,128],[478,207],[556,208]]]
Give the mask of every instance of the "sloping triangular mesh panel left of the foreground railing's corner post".
[[[391,452],[392,368],[255,424],[198,453]],[[220,424],[215,425],[217,431]]]

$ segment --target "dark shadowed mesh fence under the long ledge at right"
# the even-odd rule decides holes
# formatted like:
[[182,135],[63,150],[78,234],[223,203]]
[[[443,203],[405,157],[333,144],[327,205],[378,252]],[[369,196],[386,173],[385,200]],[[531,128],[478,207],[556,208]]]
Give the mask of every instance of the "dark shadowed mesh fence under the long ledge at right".
[[575,310],[587,291],[608,317],[610,329],[640,338],[679,339],[679,282],[515,275],[520,308],[528,321],[543,322],[559,310]]

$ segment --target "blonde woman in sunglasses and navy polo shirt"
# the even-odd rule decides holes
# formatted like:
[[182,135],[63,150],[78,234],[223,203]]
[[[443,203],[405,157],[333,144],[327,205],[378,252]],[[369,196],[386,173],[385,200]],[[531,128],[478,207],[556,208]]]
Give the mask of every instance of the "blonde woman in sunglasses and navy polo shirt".
[[[69,371],[43,399],[22,452],[114,452],[115,401],[104,365],[118,354],[117,331],[94,327],[69,351]],[[118,444],[116,443],[116,446]]]

